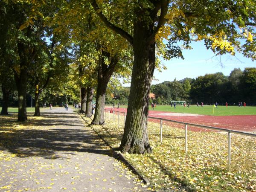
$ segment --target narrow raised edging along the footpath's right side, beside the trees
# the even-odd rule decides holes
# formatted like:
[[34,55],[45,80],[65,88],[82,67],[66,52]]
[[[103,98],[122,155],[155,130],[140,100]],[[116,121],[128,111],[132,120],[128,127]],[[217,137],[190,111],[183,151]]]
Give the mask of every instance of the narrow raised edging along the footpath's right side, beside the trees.
[[[84,119],[84,116],[82,116],[83,114],[81,114],[81,113],[78,113],[78,114],[79,114],[79,116],[80,116],[84,121],[86,121],[86,119]],[[102,125],[99,125],[99,126],[102,126]],[[91,126],[90,126],[90,127],[91,127]],[[134,173],[136,173],[136,174],[140,177],[141,180],[143,180],[143,183],[144,183],[144,184],[147,184],[147,185],[150,184],[148,178],[146,178],[146,177],[144,177],[143,175],[141,175],[140,172],[138,172],[137,169],[135,169],[135,167],[132,166],[131,163],[130,163],[127,159],[125,159],[125,157],[123,156],[123,154],[122,154],[120,151],[115,151],[115,150],[113,149],[113,147],[112,147],[112,146],[111,146],[94,128],[93,128],[93,127],[91,127],[91,128],[92,128],[93,131],[104,141],[104,143],[105,143],[106,145],[108,145],[108,146],[112,149],[114,157],[117,157],[119,160],[121,160],[122,162],[124,162]]]

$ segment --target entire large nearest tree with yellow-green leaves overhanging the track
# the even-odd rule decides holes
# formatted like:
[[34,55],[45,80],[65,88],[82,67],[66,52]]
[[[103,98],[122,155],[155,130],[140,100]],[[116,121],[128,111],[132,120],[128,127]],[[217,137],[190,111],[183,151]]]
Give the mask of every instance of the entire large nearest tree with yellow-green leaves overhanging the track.
[[[163,56],[168,59],[183,58],[177,41],[183,41],[182,46],[189,48],[191,41],[204,39],[208,49],[222,55],[226,52],[234,54],[234,47],[239,47],[236,40],[246,36],[245,47],[239,49],[247,49],[244,55],[255,59],[251,27],[255,26],[252,22],[255,3],[251,0],[246,0],[246,3],[240,0],[218,3],[212,0],[103,1],[97,4],[96,0],[91,0],[96,14],[113,32],[125,38],[134,50],[127,121],[120,145],[122,152],[151,152],[147,135],[148,94],[155,67],[155,46],[164,46],[163,38],[169,41],[167,49],[163,49]],[[120,23],[127,25],[124,27]],[[237,26],[242,33],[237,32]]]

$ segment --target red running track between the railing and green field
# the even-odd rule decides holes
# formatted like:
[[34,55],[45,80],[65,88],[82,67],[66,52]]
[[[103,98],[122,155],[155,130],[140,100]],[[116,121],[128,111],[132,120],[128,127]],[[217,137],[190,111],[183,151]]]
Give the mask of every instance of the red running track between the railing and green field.
[[[111,108],[105,108],[110,110]],[[115,108],[113,111],[126,112],[126,108]],[[189,113],[172,113],[166,111],[149,111],[149,116],[163,119],[175,120],[180,122],[193,123],[198,125],[206,125],[218,128],[232,129],[244,132],[256,132],[256,115],[234,115],[234,116],[208,116]],[[149,121],[157,122],[157,120],[149,119]],[[175,127],[183,128],[182,125],[165,122],[164,125],[175,125]],[[207,129],[189,127],[191,131],[210,131]]]

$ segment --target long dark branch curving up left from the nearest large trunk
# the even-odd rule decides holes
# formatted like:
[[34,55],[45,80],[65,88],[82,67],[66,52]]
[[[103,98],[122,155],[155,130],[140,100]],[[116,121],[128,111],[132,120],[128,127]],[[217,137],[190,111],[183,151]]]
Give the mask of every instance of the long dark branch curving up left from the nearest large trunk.
[[102,22],[111,30],[116,32],[117,34],[121,35],[123,38],[125,38],[127,41],[129,41],[130,44],[133,44],[133,38],[128,32],[125,32],[123,29],[113,25],[106,17],[103,15],[102,11],[99,9],[99,6],[96,3],[96,0],[91,0],[91,4],[93,6],[94,11],[99,16],[99,18],[102,20]]

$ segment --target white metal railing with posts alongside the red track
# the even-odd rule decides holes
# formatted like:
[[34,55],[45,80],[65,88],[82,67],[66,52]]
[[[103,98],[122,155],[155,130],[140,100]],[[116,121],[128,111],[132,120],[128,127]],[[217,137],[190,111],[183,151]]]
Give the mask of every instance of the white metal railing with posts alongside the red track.
[[[113,113],[113,122],[114,122],[114,114],[115,111],[114,110],[109,110],[109,109],[105,109],[105,118],[107,117],[108,111],[108,120],[110,120],[110,113]],[[126,113],[125,112],[120,112],[120,111],[116,111],[118,112],[118,125],[119,125],[119,113],[124,113],[124,122],[126,119]],[[231,165],[231,133],[233,134],[239,134],[239,135],[245,135],[245,136],[249,136],[249,137],[256,137],[256,134],[250,134],[250,133],[246,133],[246,132],[241,132],[241,131],[235,131],[235,130],[231,130],[231,129],[224,129],[224,128],[217,128],[217,127],[211,127],[211,126],[205,126],[205,125],[198,125],[198,124],[193,124],[193,123],[186,123],[186,122],[180,122],[180,121],[174,121],[174,120],[169,120],[169,119],[163,119],[163,118],[158,118],[158,117],[152,117],[152,116],[148,116],[149,119],[157,119],[160,120],[160,142],[162,143],[163,141],[163,121],[166,122],[174,122],[177,124],[182,124],[184,125],[184,129],[185,129],[185,152],[187,152],[187,128],[188,125],[192,126],[192,127],[198,127],[198,128],[204,128],[204,129],[210,129],[210,130],[215,130],[215,131],[222,131],[222,132],[227,132],[227,168],[230,171],[230,165]]]

